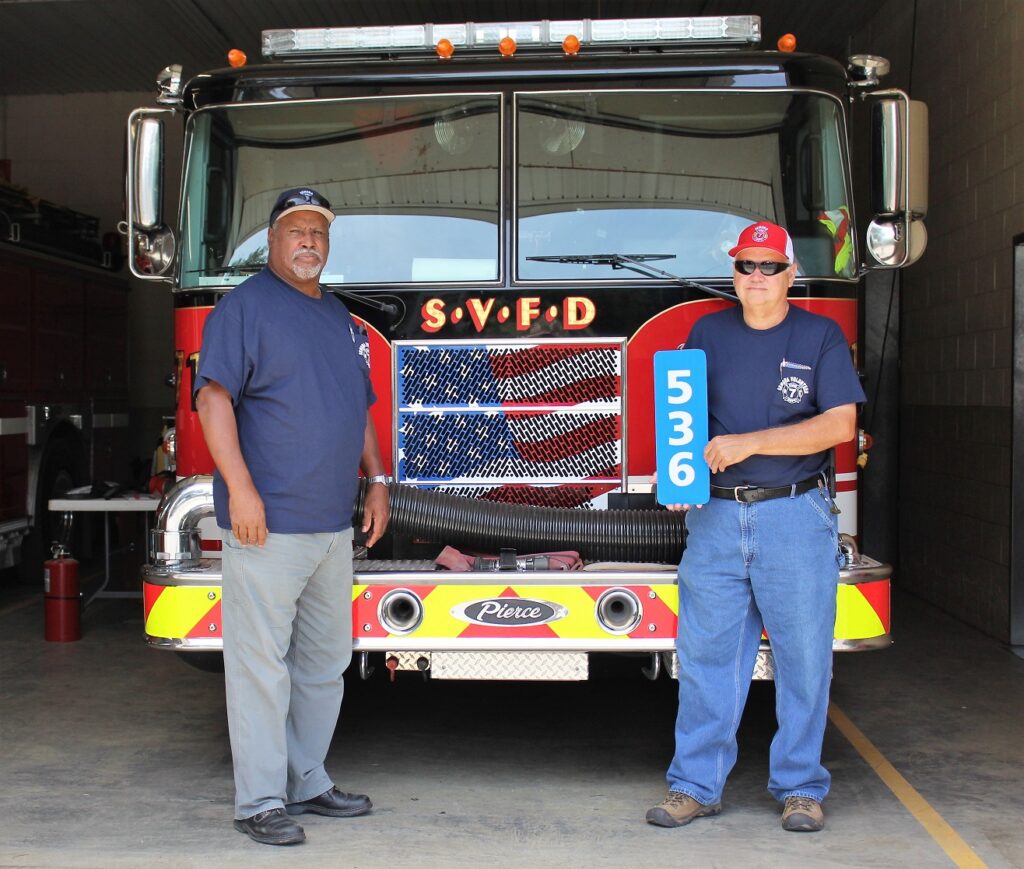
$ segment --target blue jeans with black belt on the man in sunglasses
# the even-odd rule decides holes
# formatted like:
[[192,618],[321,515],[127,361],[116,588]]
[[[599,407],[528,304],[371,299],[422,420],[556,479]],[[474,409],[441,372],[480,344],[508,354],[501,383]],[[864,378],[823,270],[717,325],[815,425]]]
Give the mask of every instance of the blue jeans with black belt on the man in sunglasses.
[[712,805],[736,762],[736,729],[761,641],[775,658],[768,790],[821,800],[839,579],[826,494],[757,504],[712,498],[686,514],[679,565],[679,712],[670,790]]

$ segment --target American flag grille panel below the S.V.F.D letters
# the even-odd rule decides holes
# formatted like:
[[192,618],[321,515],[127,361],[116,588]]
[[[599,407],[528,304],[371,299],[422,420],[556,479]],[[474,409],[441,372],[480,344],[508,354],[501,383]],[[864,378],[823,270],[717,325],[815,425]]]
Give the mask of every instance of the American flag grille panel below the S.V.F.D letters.
[[396,342],[395,350],[399,480],[551,506],[579,506],[621,484],[621,342]]

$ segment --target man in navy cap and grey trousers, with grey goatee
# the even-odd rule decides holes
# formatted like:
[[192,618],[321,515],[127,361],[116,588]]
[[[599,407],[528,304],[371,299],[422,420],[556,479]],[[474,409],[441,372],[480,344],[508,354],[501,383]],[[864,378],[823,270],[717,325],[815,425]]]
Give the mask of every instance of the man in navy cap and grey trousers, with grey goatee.
[[210,314],[194,387],[217,466],[234,827],[267,844],[305,839],[292,815],[371,809],[324,766],[352,655],[359,468],[369,546],[388,519],[366,336],[318,281],[333,220],[308,187],[278,198],[266,267]]

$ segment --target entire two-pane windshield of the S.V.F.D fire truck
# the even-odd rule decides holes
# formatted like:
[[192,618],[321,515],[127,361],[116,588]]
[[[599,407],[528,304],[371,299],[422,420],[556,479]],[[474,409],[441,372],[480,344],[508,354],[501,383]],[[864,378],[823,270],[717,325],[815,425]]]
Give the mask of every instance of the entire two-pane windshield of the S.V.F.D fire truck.
[[[503,124],[514,125],[511,147]],[[325,284],[495,283],[506,245],[512,280],[621,280],[609,263],[551,259],[638,251],[668,255],[676,274],[725,277],[733,240],[761,217],[790,228],[800,273],[852,278],[841,124],[833,97],[792,90],[202,110],[189,127],[181,286],[231,286],[260,268],[270,207],[296,184],[338,214]]]

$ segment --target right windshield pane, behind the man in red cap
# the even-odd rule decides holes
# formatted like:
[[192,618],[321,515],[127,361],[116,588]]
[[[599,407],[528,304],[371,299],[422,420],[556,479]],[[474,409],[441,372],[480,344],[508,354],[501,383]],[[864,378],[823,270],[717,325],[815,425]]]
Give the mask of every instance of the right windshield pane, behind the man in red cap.
[[829,97],[575,91],[522,95],[516,108],[521,279],[621,279],[614,263],[564,259],[595,251],[657,251],[672,255],[669,271],[724,277],[729,248],[759,218],[788,227],[800,273],[854,274],[822,219],[849,204]]

